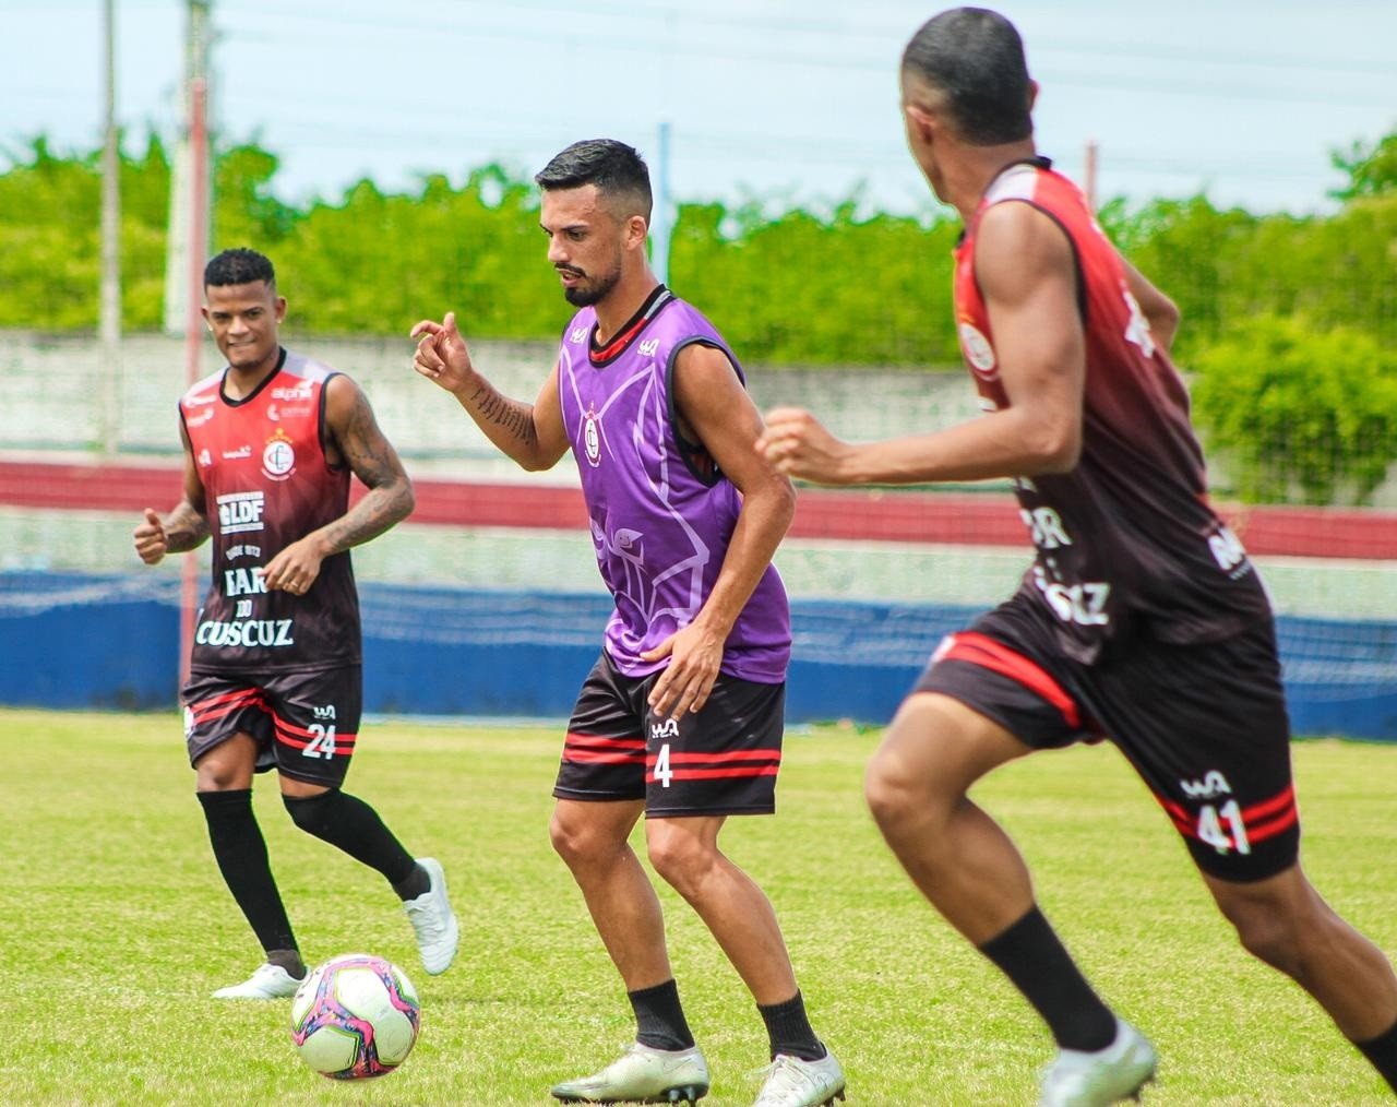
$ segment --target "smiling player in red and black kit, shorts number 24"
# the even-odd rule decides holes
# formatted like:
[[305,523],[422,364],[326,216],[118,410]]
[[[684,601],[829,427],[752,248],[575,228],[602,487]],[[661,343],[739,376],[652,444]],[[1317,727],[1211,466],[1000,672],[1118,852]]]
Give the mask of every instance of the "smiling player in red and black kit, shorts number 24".
[[[404,902],[423,967],[441,973],[460,928],[441,865],[409,854],[372,806],[341,790],[362,706],[359,595],[349,548],[412,510],[412,484],[344,373],[281,347],[286,301],[271,261],[225,250],[204,270],[204,319],[228,358],[180,400],[184,495],[147,509],[147,565],[212,538],[184,734],[214,857],[265,950],[228,999],[291,995],[306,974],[267,844],[253,774],[277,769],[302,830],[377,869]],[[349,506],[349,477],[367,493]]]

